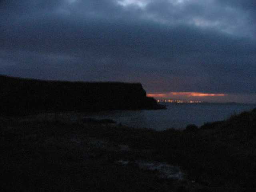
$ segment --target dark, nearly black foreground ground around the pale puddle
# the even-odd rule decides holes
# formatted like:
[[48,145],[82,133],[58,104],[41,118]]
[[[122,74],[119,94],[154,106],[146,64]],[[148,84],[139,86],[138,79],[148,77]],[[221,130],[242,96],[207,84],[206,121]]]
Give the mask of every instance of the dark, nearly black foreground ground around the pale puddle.
[[256,109],[184,131],[32,117],[0,117],[0,130],[1,191],[256,190]]

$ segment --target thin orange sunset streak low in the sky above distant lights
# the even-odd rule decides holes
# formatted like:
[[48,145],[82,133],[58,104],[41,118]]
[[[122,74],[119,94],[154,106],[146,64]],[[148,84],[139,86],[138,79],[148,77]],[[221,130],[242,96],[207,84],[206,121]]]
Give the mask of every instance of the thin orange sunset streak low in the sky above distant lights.
[[193,96],[193,97],[216,97],[216,96],[227,96],[224,93],[200,93],[200,92],[169,92],[169,93],[149,93],[148,97],[170,97],[170,96]]

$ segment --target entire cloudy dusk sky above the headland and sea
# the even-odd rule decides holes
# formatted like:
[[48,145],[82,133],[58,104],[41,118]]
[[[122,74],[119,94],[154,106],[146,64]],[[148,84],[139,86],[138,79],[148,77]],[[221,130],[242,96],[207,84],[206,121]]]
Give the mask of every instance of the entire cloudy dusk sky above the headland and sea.
[[256,1],[0,0],[0,74],[256,103]]

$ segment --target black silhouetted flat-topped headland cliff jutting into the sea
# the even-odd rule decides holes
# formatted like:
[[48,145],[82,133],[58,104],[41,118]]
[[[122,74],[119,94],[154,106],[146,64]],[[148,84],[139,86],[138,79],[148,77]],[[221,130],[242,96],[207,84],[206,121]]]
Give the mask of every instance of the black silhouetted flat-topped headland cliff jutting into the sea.
[[161,108],[140,83],[64,82],[0,76],[1,111],[100,111]]

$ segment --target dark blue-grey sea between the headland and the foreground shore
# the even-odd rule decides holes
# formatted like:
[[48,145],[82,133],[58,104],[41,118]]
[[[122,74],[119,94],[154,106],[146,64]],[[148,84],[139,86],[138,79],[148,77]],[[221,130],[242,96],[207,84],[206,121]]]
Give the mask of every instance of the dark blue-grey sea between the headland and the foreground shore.
[[207,122],[221,121],[232,115],[256,108],[256,104],[237,103],[161,103],[161,110],[114,110],[88,114],[84,117],[112,119],[118,124],[134,128],[166,130],[185,129],[188,124],[202,126]]

